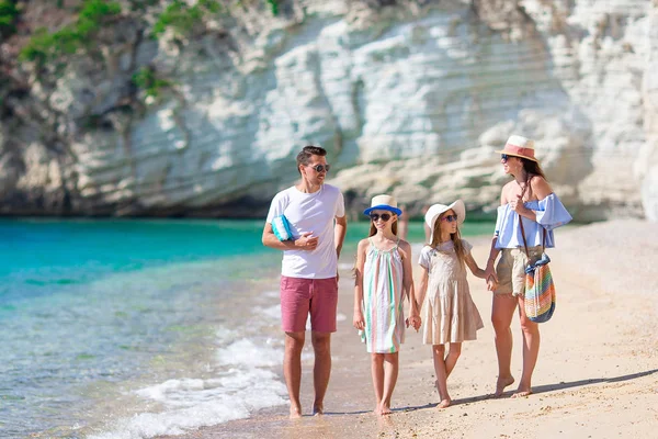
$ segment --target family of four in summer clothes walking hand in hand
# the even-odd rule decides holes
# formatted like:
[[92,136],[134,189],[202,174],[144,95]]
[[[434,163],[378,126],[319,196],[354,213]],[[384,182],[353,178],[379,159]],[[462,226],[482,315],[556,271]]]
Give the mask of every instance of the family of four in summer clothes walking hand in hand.
[[[470,255],[472,245],[461,237],[460,226],[466,216],[461,200],[434,204],[426,213],[430,237],[418,259],[421,270],[418,288],[412,279],[411,246],[398,237],[402,211],[396,200],[387,194],[374,196],[364,211],[371,226],[368,237],[362,239],[356,249],[353,325],[371,353],[378,415],[390,414],[399,370],[398,352],[409,326],[417,331],[422,326],[422,341],[431,345],[440,398],[438,407],[451,405],[447,378],[460,358],[462,342],[475,340],[477,330],[484,327],[470,296],[466,268],[485,280],[492,292],[491,322],[498,356],[495,395],[501,396],[514,382],[510,368],[510,326],[517,308],[523,336],[523,370],[512,397],[532,393],[540,331],[524,312],[525,268],[542,257],[545,247],[554,247],[553,229],[568,223],[571,216],[546,181],[531,139],[513,135],[498,153],[504,173],[513,179],[501,191],[485,268],[477,264]],[[315,352],[315,415],[324,412],[331,372],[338,258],[347,233],[347,218],[340,190],[325,184],[330,168],[326,155],[326,150],[317,146],[306,146],[297,155],[302,181],[274,196],[262,237],[265,246],[283,250],[280,285],[285,333],[283,370],[293,418],[302,416],[302,349],[309,315]],[[405,300],[409,302],[407,317]]]

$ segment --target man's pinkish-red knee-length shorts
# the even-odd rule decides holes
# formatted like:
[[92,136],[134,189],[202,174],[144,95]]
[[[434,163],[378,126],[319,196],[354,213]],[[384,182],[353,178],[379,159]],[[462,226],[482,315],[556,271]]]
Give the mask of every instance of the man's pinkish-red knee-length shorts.
[[306,330],[310,312],[310,329],[336,333],[338,281],[281,277],[281,327],[286,333]]

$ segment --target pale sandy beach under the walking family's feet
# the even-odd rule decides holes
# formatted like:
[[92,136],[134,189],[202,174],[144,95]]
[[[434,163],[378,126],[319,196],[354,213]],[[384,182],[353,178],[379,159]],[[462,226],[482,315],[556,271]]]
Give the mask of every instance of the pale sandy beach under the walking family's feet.
[[[481,266],[488,237],[470,238]],[[449,380],[453,406],[436,409],[433,367],[420,334],[407,331],[394,414],[377,417],[370,358],[352,328],[352,279],[341,272],[338,333],[327,413],[309,416],[313,363],[304,364],[304,416],[287,406],[249,419],[207,427],[178,438],[647,438],[658,428],[658,224],[614,221],[556,232],[548,251],[557,289],[553,319],[541,325],[534,394],[491,398],[497,363],[489,322],[491,296],[470,277],[472,295],[485,320],[478,340],[463,345]],[[415,246],[418,257],[419,246]],[[343,255],[349,263],[353,255]],[[417,263],[415,262],[415,266]],[[417,272],[418,273],[418,272]],[[418,275],[415,279],[418,281]],[[512,372],[520,378],[521,336],[512,324]],[[307,340],[308,341],[308,340]],[[309,342],[307,348],[310,350]],[[282,353],[283,354],[283,353]]]

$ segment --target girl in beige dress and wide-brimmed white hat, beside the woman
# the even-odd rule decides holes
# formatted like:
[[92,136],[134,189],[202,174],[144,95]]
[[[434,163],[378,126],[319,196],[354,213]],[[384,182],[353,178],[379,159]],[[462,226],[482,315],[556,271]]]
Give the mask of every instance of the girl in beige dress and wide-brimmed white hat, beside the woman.
[[[418,263],[422,278],[418,303],[422,304],[423,344],[432,345],[436,389],[441,402],[438,408],[450,406],[447,376],[462,352],[462,341],[475,340],[484,327],[473,303],[466,267],[474,275],[485,279],[470,255],[472,246],[460,236],[458,225],[464,222],[466,209],[461,200],[450,205],[434,204],[426,214],[432,235],[430,244],[420,251]],[[450,350],[445,354],[445,345]]]

